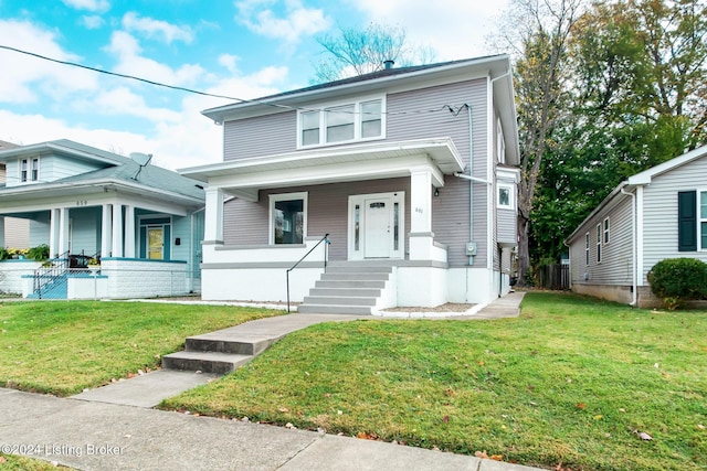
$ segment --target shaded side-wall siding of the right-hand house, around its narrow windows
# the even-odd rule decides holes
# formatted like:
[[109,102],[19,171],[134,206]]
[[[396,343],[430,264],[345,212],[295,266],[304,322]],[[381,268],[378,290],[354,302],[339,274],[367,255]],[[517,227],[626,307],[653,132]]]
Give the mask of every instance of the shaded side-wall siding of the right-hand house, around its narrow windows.
[[[571,277],[574,285],[632,285],[633,222],[631,196],[619,194],[615,205],[582,225],[570,245]],[[609,244],[603,240],[603,223],[609,217]],[[597,226],[602,225],[602,258],[597,263]],[[585,263],[585,234],[589,233],[589,265]],[[584,279],[584,274],[589,279]]]

